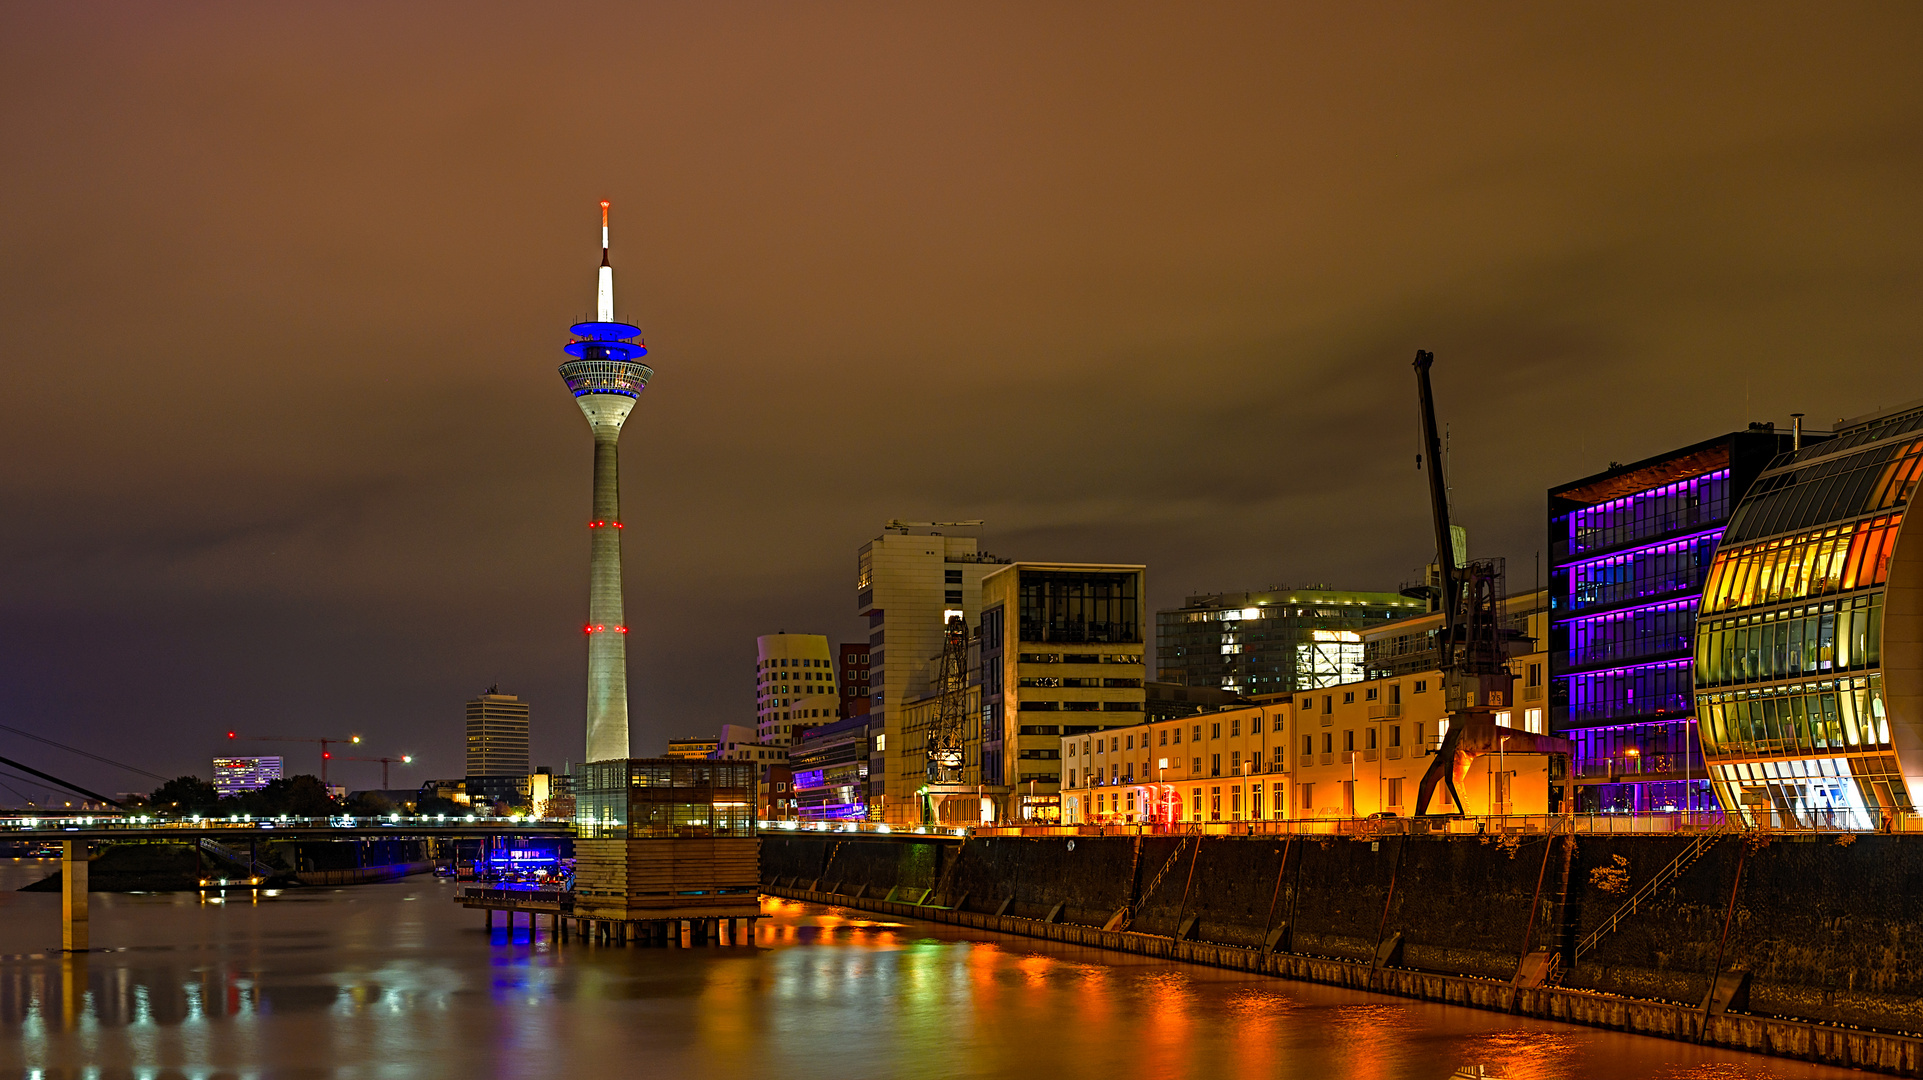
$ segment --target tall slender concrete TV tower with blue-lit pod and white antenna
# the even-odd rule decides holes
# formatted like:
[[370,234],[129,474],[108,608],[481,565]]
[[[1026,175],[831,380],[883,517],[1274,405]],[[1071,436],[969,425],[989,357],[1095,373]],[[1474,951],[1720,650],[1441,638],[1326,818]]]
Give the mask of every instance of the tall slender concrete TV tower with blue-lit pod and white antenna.
[[627,757],[627,615],[621,611],[621,425],[654,369],[640,327],[613,317],[608,263],[608,204],[602,204],[602,265],[594,317],[569,327],[562,379],[594,434],[594,515],[588,521],[588,717],[587,759]]

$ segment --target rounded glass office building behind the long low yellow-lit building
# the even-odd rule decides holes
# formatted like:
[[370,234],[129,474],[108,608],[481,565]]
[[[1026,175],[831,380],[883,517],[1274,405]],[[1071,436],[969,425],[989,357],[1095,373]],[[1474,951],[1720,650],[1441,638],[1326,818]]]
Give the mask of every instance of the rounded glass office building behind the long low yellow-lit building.
[[1325,586],[1190,596],[1156,613],[1156,678],[1242,696],[1356,682],[1360,632],[1425,609],[1396,592]]

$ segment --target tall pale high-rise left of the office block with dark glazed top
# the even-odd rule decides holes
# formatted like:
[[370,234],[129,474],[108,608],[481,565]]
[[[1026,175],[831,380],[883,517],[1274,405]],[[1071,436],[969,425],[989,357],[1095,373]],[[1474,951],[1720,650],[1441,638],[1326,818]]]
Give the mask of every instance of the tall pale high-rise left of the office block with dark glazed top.
[[929,690],[950,615],[969,626],[981,617],[983,575],[1008,559],[983,553],[973,536],[944,536],[931,527],[890,525],[862,546],[856,559],[856,613],[867,619],[869,655],[869,817],[915,821],[915,792],[927,761],[910,761],[904,705]]

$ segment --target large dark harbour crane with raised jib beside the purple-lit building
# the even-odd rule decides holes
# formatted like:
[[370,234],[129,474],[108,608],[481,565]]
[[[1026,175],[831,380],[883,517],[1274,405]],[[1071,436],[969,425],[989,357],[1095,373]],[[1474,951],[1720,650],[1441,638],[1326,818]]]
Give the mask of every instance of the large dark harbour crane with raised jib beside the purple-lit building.
[[[1456,563],[1456,530],[1450,528],[1448,480],[1442,477],[1442,438],[1436,432],[1435,392],[1429,367],[1435,354],[1415,354],[1415,398],[1421,413],[1423,455],[1429,459],[1429,509],[1436,534],[1436,584],[1442,630],[1436,634],[1436,667],[1442,669],[1442,707],[1446,734],[1423,773],[1415,792],[1415,813],[1429,813],[1436,784],[1448,788],[1461,813],[1458,780],[1485,753],[1560,753],[1571,746],[1563,738],[1521,732],[1496,724],[1496,711],[1511,705],[1515,675],[1508,667],[1510,644],[1521,632],[1502,626],[1502,559],[1463,559]],[[1567,759],[1567,757],[1565,757]]]

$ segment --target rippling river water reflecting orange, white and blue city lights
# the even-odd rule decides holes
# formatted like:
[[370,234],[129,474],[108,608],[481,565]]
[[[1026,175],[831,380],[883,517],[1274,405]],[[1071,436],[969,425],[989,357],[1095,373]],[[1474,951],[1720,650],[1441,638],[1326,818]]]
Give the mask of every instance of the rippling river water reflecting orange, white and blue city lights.
[[58,894],[0,892],[0,1074],[1863,1076],[779,899],[754,949],[619,949],[488,936],[452,896],[94,894],[63,959]]

